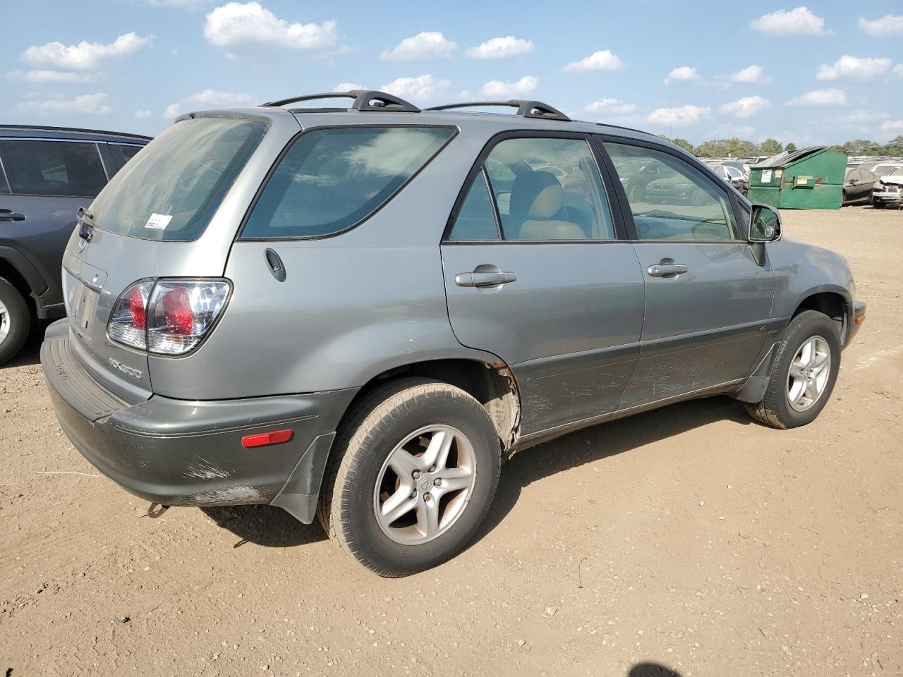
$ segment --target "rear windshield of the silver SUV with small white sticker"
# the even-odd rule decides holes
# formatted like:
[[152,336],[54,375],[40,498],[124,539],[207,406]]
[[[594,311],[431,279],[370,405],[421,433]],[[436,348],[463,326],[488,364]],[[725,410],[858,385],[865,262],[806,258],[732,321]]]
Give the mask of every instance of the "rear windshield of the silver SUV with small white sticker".
[[264,122],[227,117],[172,125],[94,200],[94,226],[145,240],[199,237],[265,132]]

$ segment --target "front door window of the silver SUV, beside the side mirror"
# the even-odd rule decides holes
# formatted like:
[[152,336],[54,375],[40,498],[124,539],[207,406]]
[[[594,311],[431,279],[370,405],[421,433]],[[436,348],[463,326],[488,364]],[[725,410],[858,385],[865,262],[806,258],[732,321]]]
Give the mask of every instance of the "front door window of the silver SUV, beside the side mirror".
[[640,240],[735,240],[731,201],[689,162],[661,151],[605,143]]

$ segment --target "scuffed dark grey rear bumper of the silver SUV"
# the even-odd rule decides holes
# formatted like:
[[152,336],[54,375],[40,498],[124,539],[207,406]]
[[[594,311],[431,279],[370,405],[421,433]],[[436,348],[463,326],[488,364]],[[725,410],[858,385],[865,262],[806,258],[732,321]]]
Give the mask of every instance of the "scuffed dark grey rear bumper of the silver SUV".
[[[127,403],[79,365],[69,340],[45,340],[41,363],[61,428],[101,473],[161,505],[269,503],[312,521],[334,431],[355,390]],[[241,444],[284,429],[293,438],[283,444]]]

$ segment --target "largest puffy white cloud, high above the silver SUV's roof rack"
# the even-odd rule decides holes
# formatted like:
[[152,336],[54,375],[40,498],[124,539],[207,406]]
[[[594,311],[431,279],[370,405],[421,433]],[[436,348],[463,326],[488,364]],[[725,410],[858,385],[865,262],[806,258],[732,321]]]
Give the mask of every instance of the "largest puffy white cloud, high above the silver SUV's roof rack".
[[315,50],[329,47],[339,38],[338,24],[288,23],[258,2],[227,3],[207,14],[204,37],[230,56],[283,47]]

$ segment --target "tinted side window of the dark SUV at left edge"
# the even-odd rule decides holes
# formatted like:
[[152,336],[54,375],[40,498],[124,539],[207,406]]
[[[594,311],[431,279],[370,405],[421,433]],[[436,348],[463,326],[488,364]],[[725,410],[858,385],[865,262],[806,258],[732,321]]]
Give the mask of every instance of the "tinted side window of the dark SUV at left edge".
[[0,159],[19,195],[93,198],[107,183],[93,142],[0,141]]

